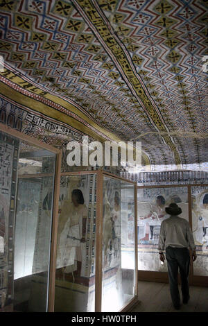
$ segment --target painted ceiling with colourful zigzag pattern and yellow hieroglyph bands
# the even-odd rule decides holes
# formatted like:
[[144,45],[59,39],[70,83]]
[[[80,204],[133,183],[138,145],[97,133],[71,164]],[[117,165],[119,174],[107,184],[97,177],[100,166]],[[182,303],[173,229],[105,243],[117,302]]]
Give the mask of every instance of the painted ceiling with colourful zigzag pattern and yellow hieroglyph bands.
[[208,169],[206,0],[0,0],[0,10],[1,106],[35,110],[71,137],[141,141],[155,171]]

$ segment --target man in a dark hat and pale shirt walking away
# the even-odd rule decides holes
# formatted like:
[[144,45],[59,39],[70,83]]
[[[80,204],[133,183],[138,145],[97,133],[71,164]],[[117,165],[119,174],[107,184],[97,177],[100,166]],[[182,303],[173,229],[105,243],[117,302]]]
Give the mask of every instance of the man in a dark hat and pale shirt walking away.
[[196,247],[189,222],[177,215],[182,213],[182,209],[176,203],[171,203],[166,207],[166,213],[171,216],[162,221],[159,234],[159,259],[164,262],[164,249],[166,249],[166,259],[168,262],[168,277],[170,282],[171,299],[175,309],[180,309],[180,293],[177,286],[177,271],[180,270],[181,289],[183,303],[189,301],[189,265],[191,256],[196,260]]

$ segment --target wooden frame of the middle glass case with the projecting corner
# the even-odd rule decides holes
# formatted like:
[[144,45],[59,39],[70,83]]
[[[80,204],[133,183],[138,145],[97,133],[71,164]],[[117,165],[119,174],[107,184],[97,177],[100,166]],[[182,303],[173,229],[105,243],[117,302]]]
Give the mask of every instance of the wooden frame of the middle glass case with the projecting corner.
[[135,297],[130,300],[125,306],[123,306],[119,312],[129,311],[138,300],[138,268],[137,268],[137,182],[130,181],[125,178],[121,178],[117,175],[109,173],[107,171],[92,170],[92,171],[73,171],[62,172],[61,176],[71,175],[86,175],[96,174],[97,177],[97,201],[96,201],[96,273],[95,273],[95,312],[101,312],[102,306],[102,248],[103,248],[103,178],[104,176],[114,178],[116,180],[122,180],[134,185],[134,200],[135,200]]

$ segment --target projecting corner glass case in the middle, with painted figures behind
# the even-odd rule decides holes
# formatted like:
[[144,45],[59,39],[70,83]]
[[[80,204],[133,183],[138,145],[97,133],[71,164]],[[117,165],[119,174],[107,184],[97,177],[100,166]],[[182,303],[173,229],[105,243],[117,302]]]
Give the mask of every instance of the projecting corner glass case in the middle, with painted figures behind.
[[55,311],[119,311],[137,298],[135,189],[103,171],[62,173]]

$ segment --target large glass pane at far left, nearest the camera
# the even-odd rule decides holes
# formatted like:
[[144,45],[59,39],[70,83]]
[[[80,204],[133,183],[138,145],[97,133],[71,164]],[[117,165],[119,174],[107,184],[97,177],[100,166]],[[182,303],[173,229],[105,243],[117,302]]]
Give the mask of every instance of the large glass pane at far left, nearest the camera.
[[54,173],[55,154],[3,132],[0,140],[0,311],[46,311],[53,177],[40,173],[47,161]]

